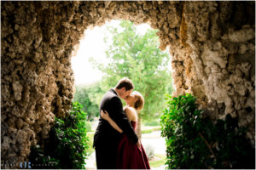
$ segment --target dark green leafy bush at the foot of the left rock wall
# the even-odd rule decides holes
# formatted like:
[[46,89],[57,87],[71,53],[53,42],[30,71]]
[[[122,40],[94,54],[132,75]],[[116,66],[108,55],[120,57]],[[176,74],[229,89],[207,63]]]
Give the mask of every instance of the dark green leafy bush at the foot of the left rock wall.
[[45,144],[44,154],[40,155],[39,149],[34,151],[34,155],[38,154],[36,163],[54,160],[55,168],[83,169],[88,150],[85,125],[86,113],[82,111],[82,105],[73,103],[73,110],[68,116],[63,119],[55,117],[55,125],[50,130],[49,144]]

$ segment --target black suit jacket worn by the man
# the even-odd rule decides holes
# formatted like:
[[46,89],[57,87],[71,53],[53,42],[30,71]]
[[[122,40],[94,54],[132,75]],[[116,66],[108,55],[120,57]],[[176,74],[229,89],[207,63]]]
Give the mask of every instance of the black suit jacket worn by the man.
[[[108,111],[109,116],[123,130],[123,133],[125,133],[134,144],[137,143],[137,135],[131,127],[131,123],[125,116],[122,102],[113,88],[103,96],[100,105],[100,111],[101,110]],[[117,146],[117,144],[119,144],[120,137],[121,133],[111,127],[108,121],[104,120],[102,116],[100,116],[99,124],[94,135],[93,146],[95,147],[97,144],[110,144]],[[111,147],[110,145],[106,145],[106,147]]]

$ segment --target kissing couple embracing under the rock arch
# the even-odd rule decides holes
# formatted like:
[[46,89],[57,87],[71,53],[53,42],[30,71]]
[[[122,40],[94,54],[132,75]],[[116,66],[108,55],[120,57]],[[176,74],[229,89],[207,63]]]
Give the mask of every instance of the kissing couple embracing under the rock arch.
[[[143,145],[137,138],[137,114],[143,109],[143,95],[122,78],[104,94],[99,124],[94,135],[97,169],[150,169]],[[120,99],[125,100],[123,108]]]

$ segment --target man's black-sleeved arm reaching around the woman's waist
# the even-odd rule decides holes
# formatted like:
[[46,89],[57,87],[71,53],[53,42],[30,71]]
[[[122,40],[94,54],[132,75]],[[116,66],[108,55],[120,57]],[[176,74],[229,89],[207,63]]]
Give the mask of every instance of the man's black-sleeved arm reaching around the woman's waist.
[[123,132],[127,135],[127,137],[131,139],[131,141],[134,144],[137,144],[137,141],[138,141],[137,135],[134,132],[133,127],[131,127],[131,123],[125,116],[125,112],[123,110],[123,105],[121,103],[121,100],[118,97],[113,97],[110,100],[109,104],[112,107],[112,111],[111,111],[111,114],[109,112],[109,116],[123,130]]

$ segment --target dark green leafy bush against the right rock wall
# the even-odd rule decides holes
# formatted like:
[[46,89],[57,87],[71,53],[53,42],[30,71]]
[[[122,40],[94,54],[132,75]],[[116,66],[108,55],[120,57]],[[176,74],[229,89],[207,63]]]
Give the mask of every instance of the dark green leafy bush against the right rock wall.
[[168,168],[254,168],[255,149],[237,119],[228,114],[213,123],[202,117],[191,94],[167,99],[160,124]]

